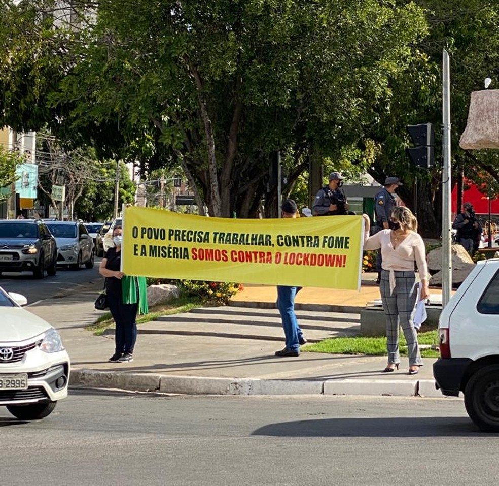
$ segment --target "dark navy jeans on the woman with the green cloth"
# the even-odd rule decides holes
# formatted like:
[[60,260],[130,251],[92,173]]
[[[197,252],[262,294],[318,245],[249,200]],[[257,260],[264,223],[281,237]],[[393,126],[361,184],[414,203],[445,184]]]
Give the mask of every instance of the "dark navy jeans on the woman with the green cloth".
[[133,353],[137,340],[137,304],[123,304],[121,296],[108,295],[109,310],[115,321],[116,352]]

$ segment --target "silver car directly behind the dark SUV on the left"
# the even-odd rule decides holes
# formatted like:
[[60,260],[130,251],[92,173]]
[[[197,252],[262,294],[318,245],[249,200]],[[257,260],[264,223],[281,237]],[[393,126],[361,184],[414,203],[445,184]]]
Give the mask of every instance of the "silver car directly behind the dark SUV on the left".
[[57,265],[93,268],[94,243],[82,222],[47,221],[47,227],[57,242]]

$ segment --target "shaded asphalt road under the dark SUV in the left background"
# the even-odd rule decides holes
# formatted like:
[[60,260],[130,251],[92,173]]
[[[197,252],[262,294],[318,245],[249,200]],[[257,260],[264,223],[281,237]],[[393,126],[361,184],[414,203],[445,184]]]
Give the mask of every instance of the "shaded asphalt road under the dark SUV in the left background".
[[102,258],[95,258],[94,268],[81,270],[66,269],[58,267],[53,277],[45,275],[43,279],[33,278],[28,272],[2,272],[0,286],[8,292],[17,292],[24,295],[28,304],[42,299],[64,295],[74,291],[81,285],[86,285],[96,279],[99,275],[99,264]]

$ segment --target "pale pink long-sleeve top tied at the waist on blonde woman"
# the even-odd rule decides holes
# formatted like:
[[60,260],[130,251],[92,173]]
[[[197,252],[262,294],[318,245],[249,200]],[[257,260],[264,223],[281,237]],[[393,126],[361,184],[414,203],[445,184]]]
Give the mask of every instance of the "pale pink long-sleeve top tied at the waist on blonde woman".
[[395,288],[395,273],[413,272],[414,262],[417,264],[419,278],[428,280],[428,266],[426,265],[426,251],[424,242],[416,232],[411,233],[402,240],[395,248],[391,244],[392,230],[381,230],[369,236],[364,233],[364,250],[377,250],[381,248],[382,268],[390,272],[390,289]]

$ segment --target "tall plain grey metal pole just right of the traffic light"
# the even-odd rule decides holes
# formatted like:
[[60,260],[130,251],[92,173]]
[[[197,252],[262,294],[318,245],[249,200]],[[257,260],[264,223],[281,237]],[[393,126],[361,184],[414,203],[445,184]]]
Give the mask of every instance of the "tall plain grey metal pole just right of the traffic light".
[[442,53],[442,309],[450,300],[452,288],[452,234],[450,226],[451,170],[450,170],[450,71],[449,54]]

